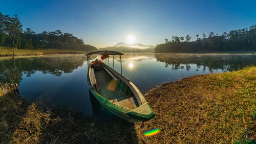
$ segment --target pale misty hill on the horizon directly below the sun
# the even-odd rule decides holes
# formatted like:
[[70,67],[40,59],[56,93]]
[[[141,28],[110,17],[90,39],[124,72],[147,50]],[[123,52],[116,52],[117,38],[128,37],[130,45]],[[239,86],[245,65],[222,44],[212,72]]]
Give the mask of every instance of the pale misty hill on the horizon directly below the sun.
[[153,53],[155,52],[155,48],[156,46],[154,45],[143,45],[140,43],[134,43],[129,45],[124,42],[119,42],[114,46],[104,47],[98,50],[117,51],[121,53]]

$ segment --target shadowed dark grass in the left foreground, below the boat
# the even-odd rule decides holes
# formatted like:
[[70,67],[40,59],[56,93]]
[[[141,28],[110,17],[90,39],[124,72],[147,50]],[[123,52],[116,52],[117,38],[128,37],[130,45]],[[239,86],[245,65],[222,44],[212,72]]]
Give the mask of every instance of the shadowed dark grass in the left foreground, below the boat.
[[[134,124],[83,116],[24,101],[12,86],[0,86],[0,143],[134,143]],[[93,124],[93,125],[92,125]],[[121,136],[120,136],[121,135]]]

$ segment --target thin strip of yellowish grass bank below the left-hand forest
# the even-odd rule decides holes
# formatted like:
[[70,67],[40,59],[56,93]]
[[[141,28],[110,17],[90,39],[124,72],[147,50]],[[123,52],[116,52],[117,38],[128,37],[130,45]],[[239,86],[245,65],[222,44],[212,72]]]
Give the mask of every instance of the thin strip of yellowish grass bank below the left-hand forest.
[[[50,54],[86,54],[84,51],[73,51],[73,50],[19,50],[15,51],[15,56],[30,56],[30,55],[50,55]],[[12,49],[0,48],[0,57],[12,56]]]

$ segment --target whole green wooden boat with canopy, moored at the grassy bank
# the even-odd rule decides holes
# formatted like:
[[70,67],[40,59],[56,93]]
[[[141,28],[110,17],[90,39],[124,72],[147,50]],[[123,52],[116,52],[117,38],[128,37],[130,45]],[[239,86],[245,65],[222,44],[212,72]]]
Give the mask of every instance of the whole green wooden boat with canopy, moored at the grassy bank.
[[[97,51],[86,54],[88,60],[91,55],[98,54],[120,56],[122,53],[115,51]],[[109,59],[109,57],[108,57]],[[127,122],[148,121],[155,116],[153,109],[148,104],[139,89],[126,77],[117,73],[110,66],[102,63],[100,67],[94,67],[88,61],[88,85],[97,101],[111,113]]]

